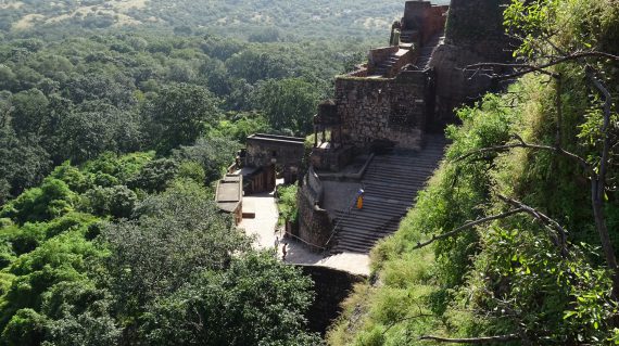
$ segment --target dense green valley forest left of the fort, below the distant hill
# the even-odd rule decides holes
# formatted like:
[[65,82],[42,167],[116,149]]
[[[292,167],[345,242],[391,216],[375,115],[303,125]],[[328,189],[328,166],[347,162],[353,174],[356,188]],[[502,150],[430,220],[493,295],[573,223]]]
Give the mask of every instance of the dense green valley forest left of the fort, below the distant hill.
[[[2,2],[0,22],[48,4]],[[214,182],[248,134],[305,136],[370,39],[174,25],[5,30],[0,345],[321,343],[311,280],[250,246]]]

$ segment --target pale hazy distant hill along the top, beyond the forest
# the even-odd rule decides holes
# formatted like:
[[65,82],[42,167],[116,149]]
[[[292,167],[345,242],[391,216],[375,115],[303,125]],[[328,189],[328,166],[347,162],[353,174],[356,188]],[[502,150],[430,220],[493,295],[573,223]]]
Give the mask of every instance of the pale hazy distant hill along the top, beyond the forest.
[[404,0],[0,0],[0,30],[24,35],[67,27],[209,29],[257,41],[367,37],[382,36],[403,9]]

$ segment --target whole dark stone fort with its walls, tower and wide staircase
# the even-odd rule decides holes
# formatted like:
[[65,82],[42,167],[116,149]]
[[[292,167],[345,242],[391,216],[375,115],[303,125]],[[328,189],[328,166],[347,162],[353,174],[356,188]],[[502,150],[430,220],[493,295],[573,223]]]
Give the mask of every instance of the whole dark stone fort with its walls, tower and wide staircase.
[[[386,47],[338,76],[333,99],[318,106],[307,162],[304,139],[248,139],[237,159],[244,168],[236,171],[245,194],[273,190],[279,169],[286,182],[300,184],[292,236],[319,251],[367,253],[399,228],[438,166],[446,144],[442,130],[456,121],[453,110],[496,88],[464,67],[509,59],[502,17],[507,2],[406,1]],[[362,189],[364,207],[357,209]]]

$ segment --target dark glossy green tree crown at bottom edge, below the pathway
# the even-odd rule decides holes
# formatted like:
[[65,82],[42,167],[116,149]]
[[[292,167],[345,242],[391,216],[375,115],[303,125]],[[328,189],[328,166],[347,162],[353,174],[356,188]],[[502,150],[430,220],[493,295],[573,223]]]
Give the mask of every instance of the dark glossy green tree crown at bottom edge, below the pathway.
[[311,285],[273,254],[252,253],[156,302],[141,333],[151,345],[317,345],[303,330]]

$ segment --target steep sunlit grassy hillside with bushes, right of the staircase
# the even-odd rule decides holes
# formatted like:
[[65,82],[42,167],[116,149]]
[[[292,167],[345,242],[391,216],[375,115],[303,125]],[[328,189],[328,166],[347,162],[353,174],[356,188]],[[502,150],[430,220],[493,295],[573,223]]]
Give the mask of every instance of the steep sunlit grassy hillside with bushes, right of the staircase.
[[520,65],[484,73],[511,85],[457,111],[330,345],[619,343],[619,7],[515,1],[505,17]]

